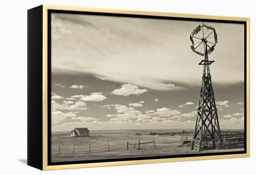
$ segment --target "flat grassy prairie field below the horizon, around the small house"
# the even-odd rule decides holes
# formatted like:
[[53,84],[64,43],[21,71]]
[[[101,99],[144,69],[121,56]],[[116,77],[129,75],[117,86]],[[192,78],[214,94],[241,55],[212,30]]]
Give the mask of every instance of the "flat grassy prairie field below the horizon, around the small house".
[[[182,134],[181,131],[182,130],[100,130],[90,131],[90,136],[88,137],[70,137],[68,131],[53,132],[51,137],[51,161],[67,162],[243,150],[243,147],[240,147],[224,150],[202,150],[201,152],[197,152],[197,148],[195,148],[191,151],[190,146],[184,145],[179,147],[179,145],[181,144],[182,137],[183,139],[185,139],[185,137],[193,137],[193,131],[186,130],[187,133],[184,134]],[[136,135],[137,132],[141,135]],[[150,132],[171,132],[174,134],[149,135]],[[140,143],[152,142],[153,138],[155,145],[154,143],[140,144],[140,149],[138,149],[139,141]],[[129,143],[128,150],[127,142]]]

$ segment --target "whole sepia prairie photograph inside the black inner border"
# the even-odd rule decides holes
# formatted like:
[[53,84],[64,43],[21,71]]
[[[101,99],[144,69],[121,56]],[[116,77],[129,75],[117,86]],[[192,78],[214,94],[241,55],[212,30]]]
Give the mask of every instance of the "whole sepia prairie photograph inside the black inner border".
[[52,12],[50,161],[245,151],[242,23]]

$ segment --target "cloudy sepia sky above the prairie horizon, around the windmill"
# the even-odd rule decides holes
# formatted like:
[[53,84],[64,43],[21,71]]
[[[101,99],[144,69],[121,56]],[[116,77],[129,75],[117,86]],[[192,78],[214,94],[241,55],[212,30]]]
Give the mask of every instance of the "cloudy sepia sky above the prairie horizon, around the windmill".
[[[52,131],[193,129],[202,56],[198,21],[52,14]],[[243,129],[243,25],[206,23],[221,129]]]

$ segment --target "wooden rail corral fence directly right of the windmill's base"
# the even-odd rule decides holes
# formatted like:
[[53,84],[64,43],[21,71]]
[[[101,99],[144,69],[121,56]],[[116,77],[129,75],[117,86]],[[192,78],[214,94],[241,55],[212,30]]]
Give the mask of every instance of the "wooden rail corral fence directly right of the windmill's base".
[[232,145],[235,146],[237,144],[244,143],[244,133],[228,133],[221,134],[223,142],[228,144],[228,148],[231,149]]

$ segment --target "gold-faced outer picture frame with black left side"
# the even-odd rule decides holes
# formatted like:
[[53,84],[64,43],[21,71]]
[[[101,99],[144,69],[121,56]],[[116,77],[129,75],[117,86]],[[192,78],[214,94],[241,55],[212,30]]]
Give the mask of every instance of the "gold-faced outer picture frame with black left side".
[[[211,156],[188,156],[188,157],[175,157],[175,158],[160,158],[160,159],[146,159],[146,160],[128,160],[128,161],[118,161],[118,162],[92,162],[92,163],[79,163],[79,164],[62,164],[62,165],[49,165],[48,163],[48,151],[49,151],[49,136],[48,136],[48,101],[49,101],[49,90],[48,90],[48,12],[49,10],[60,10],[60,11],[76,11],[76,12],[101,12],[101,13],[116,13],[116,14],[127,14],[127,15],[148,15],[148,16],[160,16],[160,17],[175,17],[175,18],[186,18],[186,19],[210,19],[210,20],[222,20],[222,21],[242,21],[246,23],[246,153],[243,154],[229,154],[229,155],[211,155]],[[38,15],[38,18],[36,18]],[[102,167],[102,166],[117,166],[117,165],[132,165],[132,164],[145,164],[145,163],[161,163],[161,162],[181,162],[181,161],[197,161],[197,160],[209,160],[209,159],[224,159],[224,158],[239,158],[239,157],[249,157],[250,155],[250,122],[249,122],[249,104],[250,104],[250,63],[249,63],[249,53],[250,53],[250,19],[249,18],[239,18],[239,17],[224,17],[224,16],[210,16],[210,15],[197,15],[197,14],[183,14],[183,13],[170,13],[170,12],[146,12],[146,11],[130,11],[130,10],[115,10],[115,9],[101,9],[101,8],[87,8],[87,7],[74,7],[74,6],[51,6],[51,5],[42,5],[35,7],[34,9],[28,10],[28,43],[33,42],[33,34],[31,34],[31,28],[35,25],[38,26],[38,29],[41,28],[41,36],[38,38],[38,43],[41,43],[40,46],[36,44],[28,44],[28,69],[32,64],[38,64],[41,66],[41,79],[38,80],[41,83],[38,84],[38,87],[42,86],[40,89],[40,100],[41,103],[35,104],[33,100],[30,100],[32,94],[39,93],[38,89],[30,88],[30,94],[28,94],[28,109],[31,110],[32,107],[35,109],[40,108],[41,113],[36,111],[31,111],[28,113],[28,165],[41,170],[54,170],[54,169],[75,169],[75,168],[88,168],[88,167]],[[34,34],[36,35],[36,34]],[[38,37],[38,35],[36,35]],[[31,39],[31,40],[30,40]],[[36,50],[39,50],[40,53],[32,53],[31,50],[35,50],[34,47],[37,47]],[[36,55],[37,54],[37,55]],[[35,56],[41,56],[41,59],[35,58]],[[36,61],[33,59],[38,59]],[[36,63],[35,63],[36,62]],[[30,65],[31,64],[31,65]],[[33,69],[34,70],[34,69]],[[38,70],[38,71],[40,71]],[[31,70],[32,71],[32,70]],[[35,70],[34,70],[35,71]],[[30,77],[31,72],[28,71],[28,86],[29,82],[34,81],[35,79]],[[36,88],[36,87],[35,87]],[[33,106],[34,105],[34,106]],[[35,106],[36,105],[36,106]],[[39,119],[32,119],[32,115],[37,114],[40,116]],[[34,116],[33,116],[34,117]],[[34,126],[32,126],[34,125]],[[36,146],[34,143],[34,137],[32,133],[33,127],[37,127],[38,131],[35,131],[35,134],[39,134],[38,138],[40,141],[37,144],[41,146],[36,150],[31,150],[32,147]],[[40,126],[40,127],[38,127]],[[40,130],[40,131],[39,131]],[[37,145],[38,146],[38,145]],[[35,162],[38,157],[40,161]]]

